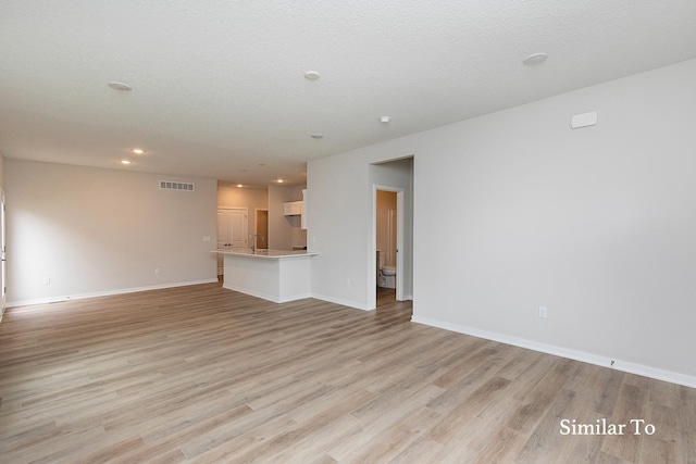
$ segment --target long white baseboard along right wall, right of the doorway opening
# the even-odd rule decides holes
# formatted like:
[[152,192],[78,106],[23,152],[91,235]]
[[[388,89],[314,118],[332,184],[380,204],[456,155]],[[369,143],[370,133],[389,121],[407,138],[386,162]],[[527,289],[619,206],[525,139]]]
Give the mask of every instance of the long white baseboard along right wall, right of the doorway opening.
[[595,364],[602,367],[613,368],[617,371],[636,374],[644,377],[655,378],[657,380],[669,381],[671,384],[683,385],[685,387],[696,388],[696,377],[680,374],[672,371],[664,371],[658,367],[635,364],[627,361],[616,360],[597,354],[586,353],[584,351],[570,350],[568,348],[557,347],[554,344],[539,343],[533,340],[525,340],[517,337],[481,330],[473,327],[467,327],[458,324],[450,324],[428,317],[420,317],[413,315],[411,322],[424,324],[432,327],[443,328],[459,334],[471,335],[472,337],[485,338],[487,340],[499,341],[500,343],[512,344],[514,347],[526,348],[529,350],[539,351],[542,353],[554,354],[556,356],[568,358],[570,360],[581,361],[583,363]]

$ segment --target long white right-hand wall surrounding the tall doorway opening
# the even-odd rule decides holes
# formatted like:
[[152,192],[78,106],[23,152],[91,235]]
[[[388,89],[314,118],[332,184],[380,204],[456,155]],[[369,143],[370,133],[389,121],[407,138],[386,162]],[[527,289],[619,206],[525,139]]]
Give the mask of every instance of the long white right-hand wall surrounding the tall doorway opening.
[[694,127],[692,60],[312,161],[312,291],[368,304],[368,164],[414,154],[414,321],[696,386]]

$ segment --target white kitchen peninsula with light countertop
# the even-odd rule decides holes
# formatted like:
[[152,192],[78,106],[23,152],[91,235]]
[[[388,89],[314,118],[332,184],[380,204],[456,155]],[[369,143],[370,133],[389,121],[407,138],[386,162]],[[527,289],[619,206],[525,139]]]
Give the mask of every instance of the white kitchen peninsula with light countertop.
[[284,303],[309,298],[310,260],[306,250],[214,250],[224,256],[223,288]]

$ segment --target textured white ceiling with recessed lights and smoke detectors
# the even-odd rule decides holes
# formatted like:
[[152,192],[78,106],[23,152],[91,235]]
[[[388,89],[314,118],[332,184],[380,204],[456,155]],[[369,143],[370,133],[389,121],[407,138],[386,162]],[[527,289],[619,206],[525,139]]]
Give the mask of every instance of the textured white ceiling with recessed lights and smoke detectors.
[[0,0],[0,152],[301,184],[309,160],[693,58],[695,0]]

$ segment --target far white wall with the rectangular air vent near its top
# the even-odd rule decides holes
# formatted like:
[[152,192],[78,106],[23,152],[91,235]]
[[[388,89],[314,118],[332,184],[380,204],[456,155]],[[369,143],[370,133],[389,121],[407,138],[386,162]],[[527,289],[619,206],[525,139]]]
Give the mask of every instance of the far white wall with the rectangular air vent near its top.
[[214,179],[9,159],[5,191],[9,304],[216,279]]

